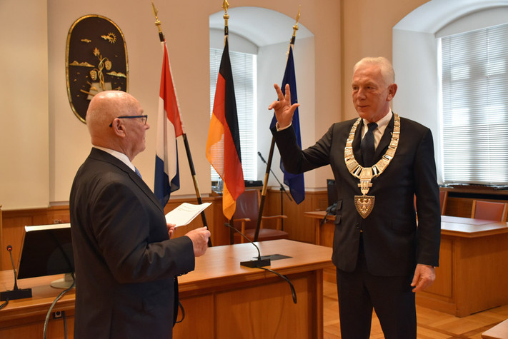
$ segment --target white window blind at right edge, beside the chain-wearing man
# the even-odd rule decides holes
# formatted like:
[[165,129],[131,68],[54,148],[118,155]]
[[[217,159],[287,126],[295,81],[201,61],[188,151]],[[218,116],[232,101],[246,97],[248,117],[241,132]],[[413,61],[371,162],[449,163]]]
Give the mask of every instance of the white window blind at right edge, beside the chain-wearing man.
[[445,183],[508,183],[508,24],[441,39]]

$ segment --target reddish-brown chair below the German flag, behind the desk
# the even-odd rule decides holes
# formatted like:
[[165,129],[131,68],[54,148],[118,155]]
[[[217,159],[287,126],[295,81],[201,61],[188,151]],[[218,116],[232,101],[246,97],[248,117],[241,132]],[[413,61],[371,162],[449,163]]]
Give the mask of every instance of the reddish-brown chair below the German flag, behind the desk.
[[[259,196],[258,190],[246,190],[236,199],[236,211],[233,215],[233,226],[244,233],[251,241],[254,241],[256,233],[257,219],[259,214]],[[267,241],[275,239],[288,239],[289,234],[282,231],[282,219],[287,216],[262,216],[262,223],[259,226],[258,241]],[[264,220],[277,220],[277,229],[263,228]],[[245,243],[244,237],[235,232],[234,243]]]

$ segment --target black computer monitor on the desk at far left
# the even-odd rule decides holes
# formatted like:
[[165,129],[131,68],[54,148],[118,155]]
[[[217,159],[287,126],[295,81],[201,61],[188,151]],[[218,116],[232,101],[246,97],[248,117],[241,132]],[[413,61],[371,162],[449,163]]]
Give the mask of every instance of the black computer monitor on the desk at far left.
[[71,224],[25,226],[18,268],[19,279],[65,274],[51,286],[70,287],[74,281]]

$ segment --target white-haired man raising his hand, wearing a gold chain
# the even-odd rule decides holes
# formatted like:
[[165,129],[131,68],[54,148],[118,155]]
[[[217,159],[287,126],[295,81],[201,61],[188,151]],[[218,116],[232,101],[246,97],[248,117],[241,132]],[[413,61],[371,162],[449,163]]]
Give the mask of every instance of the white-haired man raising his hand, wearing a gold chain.
[[[389,103],[397,92],[392,65],[365,58],[354,66],[352,98],[359,118],[334,123],[302,151],[291,126],[290,88],[272,128],[284,167],[303,173],[331,166],[337,183],[332,260],[342,338],[369,338],[372,309],[385,338],[417,338],[414,293],[429,287],[439,264],[440,208],[429,128],[401,118]],[[414,209],[417,198],[418,224]]]

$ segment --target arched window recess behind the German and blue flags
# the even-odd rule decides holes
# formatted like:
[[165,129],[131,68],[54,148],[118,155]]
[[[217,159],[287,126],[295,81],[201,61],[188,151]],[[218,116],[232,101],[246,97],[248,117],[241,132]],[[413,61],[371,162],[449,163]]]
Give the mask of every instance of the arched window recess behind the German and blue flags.
[[[240,148],[245,180],[262,180],[266,165],[257,152],[268,156],[272,133],[269,124],[272,114],[267,107],[277,96],[273,84],[280,84],[284,76],[289,40],[293,33],[294,18],[259,7],[235,7],[228,10],[229,56],[236,94],[239,118]],[[212,14],[210,27],[210,109],[220,58],[224,49],[224,11]],[[295,13],[296,15],[296,13]],[[301,23],[294,48],[299,102],[314,106],[314,36]],[[299,64],[304,67],[299,67]],[[302,82],[299,81],[301,79]],[[312,102],[310,102],[312,101]],[[278,155],[274,156],[272,170],[282,179]],[[211,168],[211,181],[219,176]],[[277,185],[274,178],[269,184]]]

